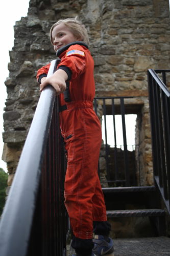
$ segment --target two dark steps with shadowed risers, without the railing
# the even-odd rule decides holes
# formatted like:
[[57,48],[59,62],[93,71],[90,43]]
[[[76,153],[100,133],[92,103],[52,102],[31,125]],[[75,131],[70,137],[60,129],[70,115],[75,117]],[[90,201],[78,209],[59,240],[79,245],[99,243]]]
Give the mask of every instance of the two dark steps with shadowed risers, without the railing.
[[113,238],[166,235],[165,210],[155,186],[103,188],[103,192]]

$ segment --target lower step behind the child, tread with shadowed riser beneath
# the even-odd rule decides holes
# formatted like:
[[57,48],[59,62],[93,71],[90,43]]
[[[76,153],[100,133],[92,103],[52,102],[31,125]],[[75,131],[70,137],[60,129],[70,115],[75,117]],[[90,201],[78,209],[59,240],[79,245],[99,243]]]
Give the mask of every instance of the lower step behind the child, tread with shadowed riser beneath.
[[166,236],[165,215],[162,209],[107,210],[112,237],[118,238],[139,236],[141,232],[143,237]]

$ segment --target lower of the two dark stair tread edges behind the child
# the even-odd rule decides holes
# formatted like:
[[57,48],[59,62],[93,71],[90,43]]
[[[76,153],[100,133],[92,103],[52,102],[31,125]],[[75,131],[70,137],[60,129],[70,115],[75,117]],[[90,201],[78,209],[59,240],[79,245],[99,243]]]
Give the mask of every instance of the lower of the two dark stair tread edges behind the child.
[[162,209],[132,209],[132,210],[107,210],[108,217],[144,217],[144,216],[164,216]]

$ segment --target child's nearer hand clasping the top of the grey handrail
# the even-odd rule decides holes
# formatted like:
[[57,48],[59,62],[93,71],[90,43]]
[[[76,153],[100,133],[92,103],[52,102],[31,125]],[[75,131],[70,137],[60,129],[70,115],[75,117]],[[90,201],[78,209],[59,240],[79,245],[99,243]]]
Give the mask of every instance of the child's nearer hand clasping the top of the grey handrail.
[[51,86],[53,86],[56,90],[56,95],[63,93],[66,89],[65,81],[67,80],[67,78],[67,73],[64,70],[57,70],[52,76],[42,81],[42,83],[40,84],[40,92],[42,92],[44,87],[48,86],[48,84],[51,84]]

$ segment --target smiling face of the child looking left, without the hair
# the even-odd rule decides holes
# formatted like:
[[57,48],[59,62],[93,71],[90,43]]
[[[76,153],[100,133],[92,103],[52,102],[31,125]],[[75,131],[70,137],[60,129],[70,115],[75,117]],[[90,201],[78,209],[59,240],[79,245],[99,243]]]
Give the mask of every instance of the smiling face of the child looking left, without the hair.
[[67,28],[67,26],[65,26],[64,23],[54,27],[52,31],[52,38],[55,51],[58,51],[58,49],[69,44],[70,42],[79,40],[79,38],[74,36],[74,34],[72,34],[72,32]]

